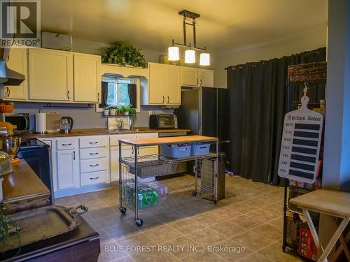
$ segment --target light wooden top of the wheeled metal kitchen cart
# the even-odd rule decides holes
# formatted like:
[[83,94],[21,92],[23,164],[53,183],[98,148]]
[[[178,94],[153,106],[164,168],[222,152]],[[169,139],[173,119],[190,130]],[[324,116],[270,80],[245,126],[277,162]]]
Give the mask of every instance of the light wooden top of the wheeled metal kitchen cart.
[[216,142],[218,138],[211,136],[172,136],[169,138],[139,138],[139,139],[122,139],[120,141],[130,145],[168,145],[183,144],[195,142]]

